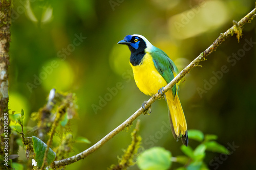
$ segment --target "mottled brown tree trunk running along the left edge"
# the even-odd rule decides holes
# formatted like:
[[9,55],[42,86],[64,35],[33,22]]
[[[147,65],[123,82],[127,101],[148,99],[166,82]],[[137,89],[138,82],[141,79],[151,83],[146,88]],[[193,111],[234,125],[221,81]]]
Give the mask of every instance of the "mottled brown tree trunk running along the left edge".
[[[5,156],[6,153],[9,155],[9,135],[11,133],[9,128],[9,116],[8,116],[8,66],[9,66],[9,46],[11,41],[11,0],[1,0],[0,2],[0,134],[1,134],[1,148],[0,155]],[[7,113],[7,114],[5,114]],[[8,120],[8,122],[6,122]],[[5,121],[5,122],[4,122]],[[8,133],[3,134],[4,132]],[[5,143],[4,143],[5,141]],[[7,142],[8,141],[8,142]],[[5,148],[6,143],[8,144],[8,149]],[[8,166],[5,165],[6,162],[0,159],[0,169],[11,169],[10,162]]]

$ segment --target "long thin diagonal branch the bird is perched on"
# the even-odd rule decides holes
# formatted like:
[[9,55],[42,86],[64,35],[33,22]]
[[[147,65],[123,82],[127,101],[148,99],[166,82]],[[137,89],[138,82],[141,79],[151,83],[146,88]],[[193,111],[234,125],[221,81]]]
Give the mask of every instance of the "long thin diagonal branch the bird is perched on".
[[[188,66],[186,66],[169,84],[167,84],[163,90],[166,92],[167,90],[171,89],[176,83],[178,83],[192,68],[196,67],[199,62],[204,61],[205,57],[211,54],[212,52],[216,51],[217,47],[225,41],[228,37],[232,36],[234,33],[240,37],[242,35],[241,28],[244,26],[245,23],[251,22],[251,20],[255,17],[256,8],[254,8],[250,13],[248,13],[245,17],[243,17],[239,22],[236,22],[230,29],[228,29],[225,33],[220,34],[220,36],[204,51],[202,52],[195,60],[193,60]],[[157,99],[161,98],[161,94],[156,93],[153,95],[145,104],[145,108],[149,108]],[[71,163],[74,163],[78,160],[81,160],[94,151],[98,150],[102,145],[109,141],[112,137],[116,134],[121,132],[125,127],[130,126],[133,121],[141,115],[145,110],[141,107],[139,108],[133,115],[127,118],[121,125],[111,131],[108,135],[103,137],[97,143],[95,143],[89,149],[72,156],[70,158],[58,160],[53,162],[54,167],[65,166]]]

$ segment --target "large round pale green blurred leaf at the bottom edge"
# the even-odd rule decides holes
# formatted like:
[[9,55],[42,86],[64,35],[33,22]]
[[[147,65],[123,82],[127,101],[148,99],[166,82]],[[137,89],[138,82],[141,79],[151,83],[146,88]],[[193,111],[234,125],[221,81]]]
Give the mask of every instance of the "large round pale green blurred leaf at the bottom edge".
[[142,170],[165,170],[170,167],[172,154],[161,147],[154,147],[144,151],[137,160],[137,164]]

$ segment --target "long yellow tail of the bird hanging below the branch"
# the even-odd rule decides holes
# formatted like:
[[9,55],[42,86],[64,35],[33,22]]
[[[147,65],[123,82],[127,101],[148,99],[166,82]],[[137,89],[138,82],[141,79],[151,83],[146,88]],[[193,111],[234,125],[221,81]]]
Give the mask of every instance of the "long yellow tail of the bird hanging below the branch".
[[183,144],[187,145],[187,123],[180,104],[179,96],[176,94],[175,98],[173,98],[172,90],[167,91],[165,95],[174,138],[178,140],[178,137],[181,135]]

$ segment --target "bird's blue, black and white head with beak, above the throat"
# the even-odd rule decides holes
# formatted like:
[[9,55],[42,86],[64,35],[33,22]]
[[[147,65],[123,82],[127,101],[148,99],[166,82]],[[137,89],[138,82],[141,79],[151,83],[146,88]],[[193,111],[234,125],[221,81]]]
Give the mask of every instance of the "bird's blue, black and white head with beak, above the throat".
[[118,44],[128,45],[132,53],[150,52],[153,46],[150,41],[138,34],[127,35]]

